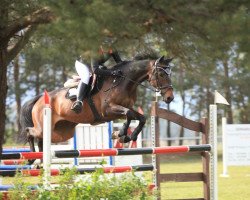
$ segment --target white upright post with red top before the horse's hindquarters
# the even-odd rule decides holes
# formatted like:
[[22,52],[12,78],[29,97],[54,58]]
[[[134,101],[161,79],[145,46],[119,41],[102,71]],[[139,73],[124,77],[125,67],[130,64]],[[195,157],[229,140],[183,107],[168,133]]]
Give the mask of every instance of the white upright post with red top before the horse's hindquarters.
[[49,102],[49,94],[44,91],[43,109],[43,185],[45,188],[50,187],[51,177],[51,107]]

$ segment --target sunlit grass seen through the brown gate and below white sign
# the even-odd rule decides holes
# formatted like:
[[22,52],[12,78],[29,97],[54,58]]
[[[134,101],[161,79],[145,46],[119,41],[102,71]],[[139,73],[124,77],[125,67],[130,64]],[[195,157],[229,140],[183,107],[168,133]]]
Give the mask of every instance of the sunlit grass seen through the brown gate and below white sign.
[[[202,165],[194,156],[164,156],[161,158],[161,173],[201,172]],[[220,177],[222,162],[218,161],[218,192],[220,200],[250,199],[250,166],[228,168],[228,178]],[[202,182],[161,184],[162,199],[203,197]]]

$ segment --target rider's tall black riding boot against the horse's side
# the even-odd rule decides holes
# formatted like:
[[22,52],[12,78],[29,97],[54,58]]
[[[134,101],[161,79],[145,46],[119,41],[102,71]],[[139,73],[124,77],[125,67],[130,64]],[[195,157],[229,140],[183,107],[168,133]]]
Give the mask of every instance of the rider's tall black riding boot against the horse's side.
[[83,99],[84,99],[84,97],[86,97],[88,85],[81,82],[78,87],[80,87],[80,89],[79,89],[79,92],[77,94],[77,99],[71,107],[71,110],[75,111],[75,113],[77,113],[77,114],[82,111]]

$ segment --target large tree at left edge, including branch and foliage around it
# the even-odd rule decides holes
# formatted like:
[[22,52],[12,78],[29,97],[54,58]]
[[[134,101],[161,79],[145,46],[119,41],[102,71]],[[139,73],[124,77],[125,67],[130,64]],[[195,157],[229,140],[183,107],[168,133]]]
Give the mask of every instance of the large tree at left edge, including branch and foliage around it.
[[54,16],[47,7],[34,1],[0,1],[0,153],[5,132],[5,105],[8,64],[28,43],[39,24],[49,23]]

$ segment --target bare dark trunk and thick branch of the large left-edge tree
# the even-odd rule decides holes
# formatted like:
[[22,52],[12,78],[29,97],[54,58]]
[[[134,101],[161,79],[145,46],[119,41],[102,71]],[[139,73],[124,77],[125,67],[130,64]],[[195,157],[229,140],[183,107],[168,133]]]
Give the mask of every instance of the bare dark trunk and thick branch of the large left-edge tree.
[[[7,66],[27,44],[37,25],[49,23],[54,19],[54,15],[47,7],[38,9],[25,17],[15,16],[14,20],[9,19],[9,11],[12,11],[13,4],[15,5],[10,1],[1,1],[0,6],[0,154],[2,154],[5,133]],[[25,29],[27,30],[24,31],[24,37],[8,46],[16,33]]]

